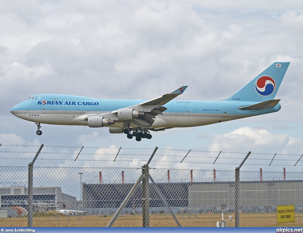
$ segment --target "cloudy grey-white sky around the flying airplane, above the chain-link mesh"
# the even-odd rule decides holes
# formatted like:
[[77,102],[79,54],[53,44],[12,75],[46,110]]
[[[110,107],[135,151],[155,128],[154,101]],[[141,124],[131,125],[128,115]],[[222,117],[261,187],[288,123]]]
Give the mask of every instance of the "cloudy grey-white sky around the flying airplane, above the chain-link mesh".
[[[152,162],[152,167],[224,170],[234,170],[251,151],[255,160],[247,163],[257,165],[244,165],[244,170],[282,171],[285,166],[288,171],[301,170],[290,166],[303,154],[301,1],[2,1],[0,22],[0,151],[38,149],[3,145],[85,146],[96,148],[84,149],[79,159],[113,160],[115,155],[99,154],[115,154],[119,147],[151,148],[140,151],[143,156],[122,155],[120,160],[132,160],[125,162],[36,162],[37,166],[140,167],[158,146],[184,151],[159,150],[155,160],[161,162]],[[175,128],[141,142],[109,134],[107,128],[85,126],[42,125],[43,135],[37,136],[34,123],[9,111],[34,94],[151,99],[183,85],[188,88],[181,100],[221,100],[274,61],[291,62],[276,95],[281,111]],[[77,153],[80,148],[43,151]],[[214,152],[188,156],[240,154],[222,153],[239,159],[218,159],[217,165],[212,165],[213,158],[165,162],[181,161],[190,149]],[[272,159],[275,153],[291,155],[277,155],[275,166],[261,165],[270,160],[258,159]],[[0,156],[32,158],[34,154],[2,152]],[[41,158],[73,159],[75,154],[45,153]],[[1,159],[1,164],[27,166],[29,161]]]

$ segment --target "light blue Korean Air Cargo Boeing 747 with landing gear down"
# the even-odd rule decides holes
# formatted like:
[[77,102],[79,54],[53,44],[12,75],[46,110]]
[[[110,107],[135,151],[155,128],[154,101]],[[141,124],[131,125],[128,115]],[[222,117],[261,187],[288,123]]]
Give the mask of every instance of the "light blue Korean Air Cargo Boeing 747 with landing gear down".
[[275,99],[289,62],[274,62],[244,87],[225,100],[173,100],[187,86],[152,100],[96,99],[90,97],[38,94],[11,109],[11,113],[41,124],[108,127],[110,133],[125,133],[137,141],[151,139],[150,131],[194,127],[244,117],[273,113],[281,109]]

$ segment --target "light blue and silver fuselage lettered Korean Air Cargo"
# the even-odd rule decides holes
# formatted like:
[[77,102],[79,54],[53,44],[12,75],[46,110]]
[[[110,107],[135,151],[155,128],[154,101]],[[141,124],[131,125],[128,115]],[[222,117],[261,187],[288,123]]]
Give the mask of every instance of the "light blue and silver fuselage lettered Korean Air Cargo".
[[[96,99],[60,94],[38,94],[16,105],[12,114],[24,120],[53,125],[88,125],[82,115],[102,114],[142,103],[146,100]],[[258,102],[241,100],[188,101],[171,100],[150,128],[194,127],[277,112],[280,104],[263,110],[239,110]],[[123,127],[115,121],[110,127]]]

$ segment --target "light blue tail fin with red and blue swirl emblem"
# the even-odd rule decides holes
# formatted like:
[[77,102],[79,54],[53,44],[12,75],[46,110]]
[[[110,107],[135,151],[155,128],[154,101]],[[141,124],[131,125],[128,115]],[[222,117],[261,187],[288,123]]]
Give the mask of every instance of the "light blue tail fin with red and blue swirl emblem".
[[228,100],[266,101],[277,94],[290,62],[274,62]]

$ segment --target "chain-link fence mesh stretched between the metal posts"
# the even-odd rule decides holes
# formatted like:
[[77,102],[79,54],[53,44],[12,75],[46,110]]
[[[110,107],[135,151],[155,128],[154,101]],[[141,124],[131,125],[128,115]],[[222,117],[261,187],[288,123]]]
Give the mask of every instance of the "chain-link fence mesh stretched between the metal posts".
[[[0,225],[28,226],[28,167],[0,174]],[[277,205],[302,225],[303,172],[240,171],[238,200],[235,186],[235,171],[33,167],[32,226],[234,227],[236,202],[240,227],[281,226]]]

